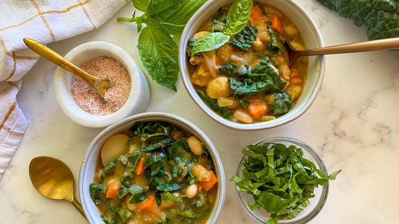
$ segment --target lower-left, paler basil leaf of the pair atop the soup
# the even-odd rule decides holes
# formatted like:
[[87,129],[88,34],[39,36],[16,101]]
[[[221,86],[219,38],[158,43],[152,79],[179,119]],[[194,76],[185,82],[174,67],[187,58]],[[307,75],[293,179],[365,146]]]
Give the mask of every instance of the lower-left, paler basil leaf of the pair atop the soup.
[[230,36],[227,34],[220,32],[209,33],[194,43],[191,56],[196,53],[218,49],[229,40]]

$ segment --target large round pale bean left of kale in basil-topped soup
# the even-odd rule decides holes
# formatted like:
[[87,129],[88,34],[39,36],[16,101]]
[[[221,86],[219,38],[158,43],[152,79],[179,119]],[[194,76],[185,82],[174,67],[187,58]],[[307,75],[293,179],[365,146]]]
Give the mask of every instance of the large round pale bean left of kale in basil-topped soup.
[[228,97],[231,94],[230,82],[227,77],[218,76],[208,82],[205,92],[212,99]]

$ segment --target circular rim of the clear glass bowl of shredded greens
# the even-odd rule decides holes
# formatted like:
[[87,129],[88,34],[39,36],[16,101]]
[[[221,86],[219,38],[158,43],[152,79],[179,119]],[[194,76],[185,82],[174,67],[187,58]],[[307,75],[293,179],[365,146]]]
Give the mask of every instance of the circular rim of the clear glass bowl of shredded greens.
[[[325,167],[325,164],[324,164],[323,160],[321,159],[320,155],[317,154],[317,152],[311,146],[307,145],[306,143],[304,143],[300,140],[294,139],[294,138],[289,138],[289,137],[272,137],[272,138],[260,140],[256,143],[254,143],[253,145],[261,145],[266,142],[271,142],[271,143],[284,142],[284,143],[295,144],[297,146],[300,146],[302,150],[306,150],[308,153],[310,153],[313,156],[313,158],[315,159],[321,172],[326,176],[328,175],[327,168]],[[245,147],[245,149],[248,150],[247,147]],[[247,155],[242,156],[242,158],[236,168],[236,172],[235,172],[236,176],[239,176],[239,174],[241,173],[242,163],[247,157],[248,157]],[[266,223],[268,221],[268,219],[261,217],[255,211],[251,211],[251,209],[249,208],[247,201],[245,201],[245,199],[243,198],[243,194],[247,194],[247,193],[238,191],[237,183],[234,183],[234,188],[235,188],[235,192],[237,194],[238,200],[239,200],[242,208],[247,212],[247,214],[250,215],[251,218],[253,218],[254,220],[256,220],[259,223]],[[286,223],[286,224],[305,224],[305,223],[308,223],[309,221],[311,221],[323,209],[323,207],[327,201],[328,192],[329,192],[329,182],[325,183],[322,186],[320,199],[317,201],[315,208],[313,210],[311,210],[311,212],[308,215],[300,218],[299,220],[295,220],[295,222],[290,222],[289,219],[284,219],[287,221],[284,223]]]

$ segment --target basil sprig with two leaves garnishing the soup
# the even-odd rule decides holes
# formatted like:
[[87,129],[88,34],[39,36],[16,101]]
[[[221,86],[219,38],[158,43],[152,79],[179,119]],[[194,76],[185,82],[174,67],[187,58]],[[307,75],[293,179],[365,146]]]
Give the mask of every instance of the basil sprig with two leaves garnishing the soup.
[[226,29],[223,32],[207,34],[196,41],[191,56],[204,51],[212,51],[227,43],[230,36],[240,32],[247,25],[251,10],[251,0],[236,0],[227,14]]

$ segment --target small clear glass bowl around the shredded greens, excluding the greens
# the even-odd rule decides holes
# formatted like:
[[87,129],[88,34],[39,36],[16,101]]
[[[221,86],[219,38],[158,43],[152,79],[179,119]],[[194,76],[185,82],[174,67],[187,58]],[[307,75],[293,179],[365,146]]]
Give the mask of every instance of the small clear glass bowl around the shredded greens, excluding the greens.
[[[266,142],[274,143],[274,144],[284,144],[285,146],[290,146],[290,145],[295,145],[296,147],[302,148],[303,150],[303,158],[313,162],[318,169],[321,170],[321,172],[324,175],[327,175],[327,169],[324,166],[323,161],[321,160],[320,156],[316,153],[316,151],[311,148],[310,146],[306,145],[305,143],[292,139],[292,138],[284,138],[284,137],[275,137],[275,138],[269,138],[265,140],[261,140],[254,145],[263,145]],[[240,177],[241,179],[243,178],[243,173],[242,169],[244,168],[242,166],[242,162],[247,159],[247,155],[244,155],[241,159],[241,161],[238,164],[237,170],[236,170],[236,175]],[[235,184],[236,186],[237,184]],[[314,217],[316,217],[317,214],[321,211],[323,208],[325,201],[327,199],[328,195],[328,186],[329,182],[324,184],[323,186],[318,186],[318,188],[315,188],[314,198],[310,198],[310,205],[306,207],[302,212],[300,212],[295,218],[293,219],[282,219],[279,220],[278,223],[290,223],[290,224],[303,224],[311,221]],[[238,196],[238,199],[242,205],[242,208],[256,221],[260,223],[266,223],[270,219],[270,213],[266,212],[263,208],[255,209],[254,211],[251,211],[248,201],[250,201],[251,205],[255,203],[255,200],[253,198],[252,194],[248,194],[247,192],[241,192],[238,191],[236,188],[236,193]]]

